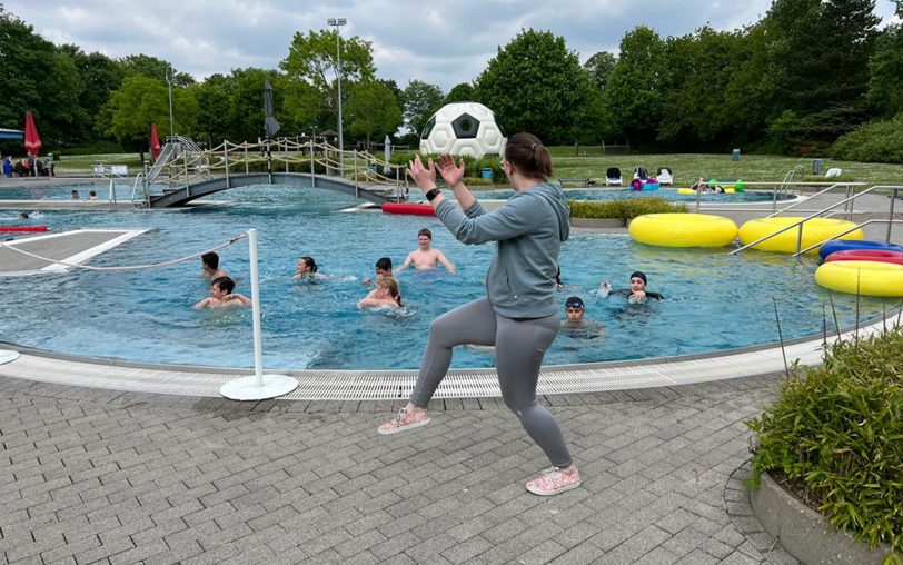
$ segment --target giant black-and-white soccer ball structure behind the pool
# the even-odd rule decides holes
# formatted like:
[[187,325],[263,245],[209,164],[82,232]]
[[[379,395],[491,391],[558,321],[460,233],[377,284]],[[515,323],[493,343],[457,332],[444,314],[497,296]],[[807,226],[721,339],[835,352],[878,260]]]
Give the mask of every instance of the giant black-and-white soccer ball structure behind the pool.
[[421,153],[502,155],[507,138],[493,110],[477,102],[454,102],[439,108],[420,132]]

